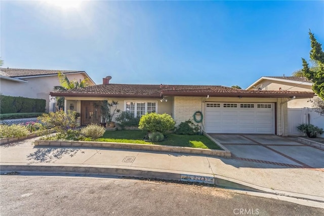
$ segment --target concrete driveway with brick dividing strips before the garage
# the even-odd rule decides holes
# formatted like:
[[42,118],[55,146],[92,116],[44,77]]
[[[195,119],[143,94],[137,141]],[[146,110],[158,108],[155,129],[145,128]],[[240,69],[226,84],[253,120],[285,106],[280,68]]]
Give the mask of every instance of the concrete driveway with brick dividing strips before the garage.
[[324,151],[306,146],[295,137],[251,134],[210,134],[232,157],[257,163],[324,171]]

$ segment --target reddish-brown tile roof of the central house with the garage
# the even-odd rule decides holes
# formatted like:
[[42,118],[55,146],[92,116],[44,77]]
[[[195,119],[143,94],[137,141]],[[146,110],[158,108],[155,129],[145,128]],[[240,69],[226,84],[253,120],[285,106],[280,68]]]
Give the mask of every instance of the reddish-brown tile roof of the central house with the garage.
[[248,91],[225,86],[196,86],[196,85],[136,85],[136,84],[107,84],[89,86],[86,88],[53,91],[52,96],[80,97],[140,97],[160,98],[164,95],[173,96],[218,96],[218,97],[313,97],[312,92],[297,91]]

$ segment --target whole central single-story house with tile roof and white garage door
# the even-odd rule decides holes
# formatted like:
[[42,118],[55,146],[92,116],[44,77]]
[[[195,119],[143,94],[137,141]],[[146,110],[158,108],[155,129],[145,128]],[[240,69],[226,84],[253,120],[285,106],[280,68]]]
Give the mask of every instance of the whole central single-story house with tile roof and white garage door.
[[[108,79],[107,79],[108,78]],[[82,89],[52,91],[64,96],[66,104],[81,115],[83,125],[99,123],[97,101],[118,101],[118,109],[142,116],[170,114],[180,124],[200,111],[199,123],[207,133],[259,133],[287,135],[287,102],[292,98],[313,97],[312,92],[248,91],[224,86],[103,84]],[[110,78],[110,79],[109,79]],[[200,117],[197,117],[199,119]]]

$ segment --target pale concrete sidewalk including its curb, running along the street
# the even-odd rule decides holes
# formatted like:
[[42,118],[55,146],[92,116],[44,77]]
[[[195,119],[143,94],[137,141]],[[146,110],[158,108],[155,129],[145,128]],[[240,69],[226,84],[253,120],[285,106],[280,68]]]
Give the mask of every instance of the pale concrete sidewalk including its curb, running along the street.
[[[177,153],[34,147],[26,139],[1,146],[5,171],[53,171],[199,181],[324,202],[324,172]],[[189,177],[188,177],[189,176]]]

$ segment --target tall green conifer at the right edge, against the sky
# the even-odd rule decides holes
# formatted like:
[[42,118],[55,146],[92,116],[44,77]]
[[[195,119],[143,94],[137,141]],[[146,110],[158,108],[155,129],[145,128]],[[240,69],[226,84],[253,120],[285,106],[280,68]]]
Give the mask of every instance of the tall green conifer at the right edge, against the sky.
[[302,58],[303,74],[308,80],[313,82],[313,91],[322,99],[324,99],[324,52],[321,44],[318,43],[314,34],[309,30],[310,39],[310,58],[318,65],[315,69],[309,68],[307,61]]

